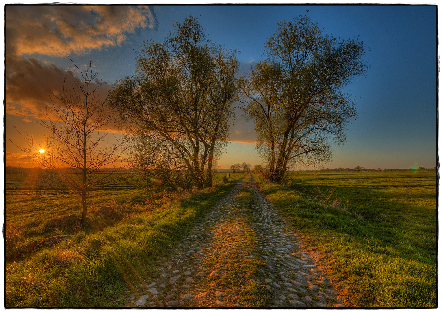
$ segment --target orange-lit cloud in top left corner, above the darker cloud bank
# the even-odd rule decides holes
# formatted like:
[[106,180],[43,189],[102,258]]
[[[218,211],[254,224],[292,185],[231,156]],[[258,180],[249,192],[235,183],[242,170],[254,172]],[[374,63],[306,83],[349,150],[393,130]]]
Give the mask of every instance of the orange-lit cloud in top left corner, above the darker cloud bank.
[[6,6],[6,55],[63,57],[121,45],[137,28],[158,29],[148,6]]

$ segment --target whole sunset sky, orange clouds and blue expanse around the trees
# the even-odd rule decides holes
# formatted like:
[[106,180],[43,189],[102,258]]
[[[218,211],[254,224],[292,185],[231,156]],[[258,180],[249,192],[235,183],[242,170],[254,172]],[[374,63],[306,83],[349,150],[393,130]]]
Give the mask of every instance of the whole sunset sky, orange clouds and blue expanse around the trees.
[[[103,81],[103,97],[118,80],[133,73],[143,40],[162,42],[173,23],[189,15],[210,40],[238,49],[240,75],[266,58],[264,46],[278,21],[309,17],[325,34],[359,36],[370,51],[370,69],[344,90],[352,93],[358,119],[347,126],[347,142],[332,145],[324,167],[412,168],[437,161],[437,21],[434,5],[155,5],[6,6],[5,60],[6,164],[30,167],[15,145],[20,132],[44,133],[39,116],[61,90],[92,62]],[[255,151],[252,122],[241,110],[230,126],[229,144],[219,168],[263,163]],[[113,130],[118,132],[117,129]],[[117,134],[118,135],[118,134]]]

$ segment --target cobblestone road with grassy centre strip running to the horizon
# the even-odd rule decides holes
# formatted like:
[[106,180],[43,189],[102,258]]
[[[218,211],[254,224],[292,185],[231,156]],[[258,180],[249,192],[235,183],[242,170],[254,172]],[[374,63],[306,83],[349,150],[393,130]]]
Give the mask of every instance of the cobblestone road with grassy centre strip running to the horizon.
[[250,174],[156,271],[145,293],[127,300],[141,307],[343,307]]

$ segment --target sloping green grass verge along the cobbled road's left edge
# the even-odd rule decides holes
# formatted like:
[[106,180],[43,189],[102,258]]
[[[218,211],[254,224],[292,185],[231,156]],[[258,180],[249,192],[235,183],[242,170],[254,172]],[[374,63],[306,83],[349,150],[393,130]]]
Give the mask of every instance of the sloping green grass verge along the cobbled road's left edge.
[[[105,228],[62,232],[70,236],[56,246],[43,247],[24,259],[6,263],[5,306],[113,306],[108,298],[119,298],[128,289],[135,291],[143,283],[142,276],[151,273],[152,264],[186,235],[231,186],[221,184],[170,199],[151,211],[128,213],[122,221]],[[27,205],[34,203],[32,200]],[[9,204],[7,198],[7,224],[8,218],[19,222],[19,209],[8,210]],[[34,209],[29,210],[34,213]]]

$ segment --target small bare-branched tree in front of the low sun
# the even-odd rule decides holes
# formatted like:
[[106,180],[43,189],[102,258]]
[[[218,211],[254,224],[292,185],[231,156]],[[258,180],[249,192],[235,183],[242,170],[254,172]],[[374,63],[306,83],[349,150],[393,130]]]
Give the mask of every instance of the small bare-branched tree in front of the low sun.
[[92,71],[92,63],[77,69],[81,79],[75,78],[69,86],[65,78],[63,90],[51,97],[52,107],[40,119],[50,135],[34,139],[33,134],[19,131],[26,144],[18,147],[43,169],[43,189],[80,195],[81,224],[85,224],[90,192],[104,190],[126,177],[115,174],[127,166],[122,158],[126,138],[115,138],[114,144],[108,144],[106,130],[114,126],[113,113],[106,99],[98,95],[98,72]]

